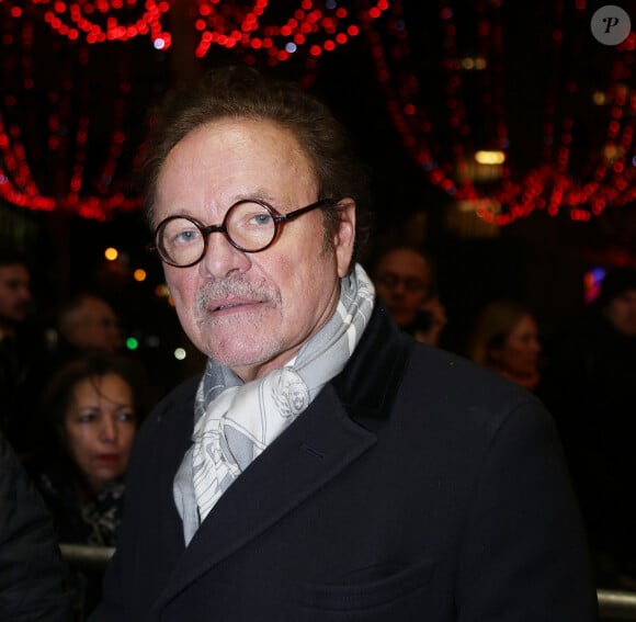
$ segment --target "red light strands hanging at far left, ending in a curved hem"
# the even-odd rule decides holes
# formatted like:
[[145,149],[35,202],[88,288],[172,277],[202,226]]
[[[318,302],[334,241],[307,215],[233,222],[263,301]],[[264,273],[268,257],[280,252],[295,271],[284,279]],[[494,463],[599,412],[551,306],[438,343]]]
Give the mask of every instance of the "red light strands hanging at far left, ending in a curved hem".
[[[32,210],[61,210],[100,220],[114,211],[138,210],[140,200],[129,192],[128,171],[117,176],[127,140],[129,56],[114,57],[118,89],[111,100],[102,100],[90,83],[91,46],[76,43],[67,48],[63,39],[52,39],[47,54],[59,58],[60,66],[45,69],[57,71],[59,79],[43,75],[34,50],[42,22],[16,14],[0,13],[0,197]],[[103,118],[94,118],[95,101],[105,111]],[[103,147],[101,157],[90,152],[94,140]]]

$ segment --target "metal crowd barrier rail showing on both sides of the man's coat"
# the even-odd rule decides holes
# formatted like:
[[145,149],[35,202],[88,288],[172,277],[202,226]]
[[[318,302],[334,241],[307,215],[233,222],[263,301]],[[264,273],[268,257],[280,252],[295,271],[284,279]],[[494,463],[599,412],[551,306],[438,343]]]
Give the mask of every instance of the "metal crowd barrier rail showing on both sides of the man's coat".
[[[60,544],[61,555],[75,568],[105,569],[114,549]],[[635,620],[636,592],[598,590],[599,613],[602,621]]]

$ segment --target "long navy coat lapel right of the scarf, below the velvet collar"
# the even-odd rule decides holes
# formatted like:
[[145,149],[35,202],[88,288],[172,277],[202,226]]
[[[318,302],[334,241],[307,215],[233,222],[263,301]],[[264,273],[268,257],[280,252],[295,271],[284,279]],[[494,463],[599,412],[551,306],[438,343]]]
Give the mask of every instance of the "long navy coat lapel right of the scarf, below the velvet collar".
[[218,500],[174,568],[157,610],[305,501],[375,441],[327,386]]

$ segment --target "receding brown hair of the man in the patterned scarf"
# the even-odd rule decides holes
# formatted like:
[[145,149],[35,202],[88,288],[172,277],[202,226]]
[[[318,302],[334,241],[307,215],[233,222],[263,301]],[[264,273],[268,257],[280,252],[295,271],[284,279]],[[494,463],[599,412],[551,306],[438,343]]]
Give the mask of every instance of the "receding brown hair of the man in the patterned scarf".
[[[271,79],[241,66],[211,70],[195,86],[171,93],[156,113],[145,147],[143,186],[146,214],[154,226],[157,179],[171,149],[197,127],[220,118],[266,120],[289,131],[308,156],[318,181],[317,199],[351,197],[356,204],[354,256],[368,234],[368,184],[365,167],[348,133],[327,105],[293,82]],[[326,206],[326,239],[332,239],[339,206]]]

